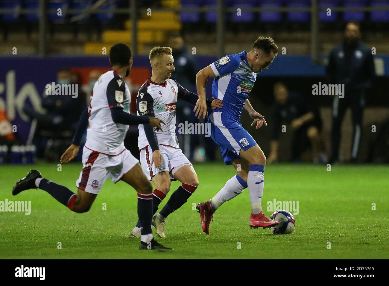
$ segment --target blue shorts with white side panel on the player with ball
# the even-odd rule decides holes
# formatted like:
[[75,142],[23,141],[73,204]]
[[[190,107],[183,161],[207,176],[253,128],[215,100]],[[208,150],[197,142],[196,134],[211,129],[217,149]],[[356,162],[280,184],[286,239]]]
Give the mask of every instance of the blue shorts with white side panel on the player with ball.
[[240,150],[246,151],[258,145],[242,124],[226,116],[221,111],[212,112],[208,118],[210,135],[220,147],[224,163],[231,164],[231,160],[240,159]]

